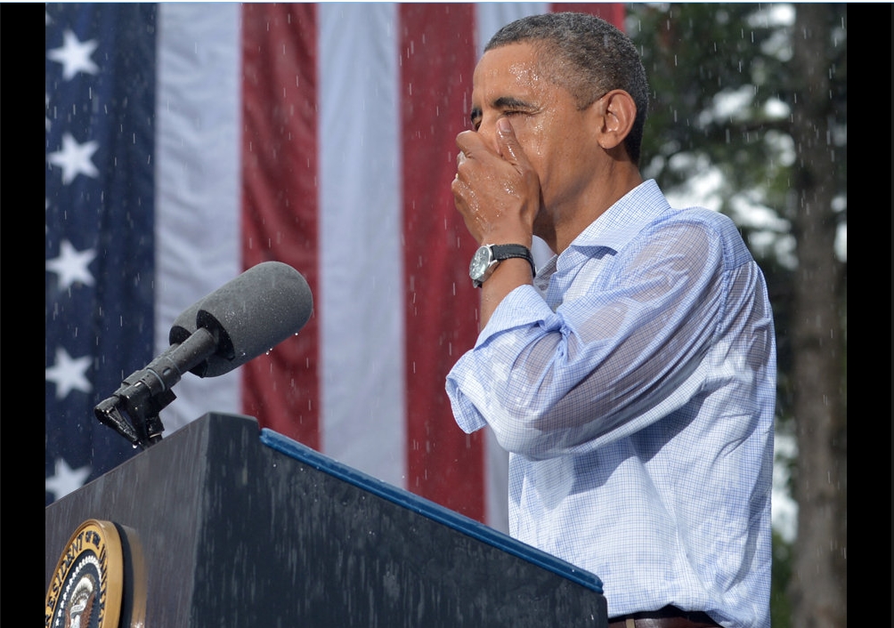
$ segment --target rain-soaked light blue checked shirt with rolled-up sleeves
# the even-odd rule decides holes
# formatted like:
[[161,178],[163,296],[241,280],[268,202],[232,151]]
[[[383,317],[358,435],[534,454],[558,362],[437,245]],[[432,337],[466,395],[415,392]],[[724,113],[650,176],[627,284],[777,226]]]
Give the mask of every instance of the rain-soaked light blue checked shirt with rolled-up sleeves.
[[645,181],[503,299],[446,388],[510,452],[510,534],[599,576],[610,617],[769,626],[775,340],[730,219]]

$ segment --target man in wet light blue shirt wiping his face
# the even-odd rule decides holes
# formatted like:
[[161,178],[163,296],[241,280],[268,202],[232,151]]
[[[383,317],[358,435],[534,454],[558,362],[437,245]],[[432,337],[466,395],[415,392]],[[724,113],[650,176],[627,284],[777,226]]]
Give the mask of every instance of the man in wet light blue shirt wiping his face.
[[732,222],[642,179],[646,108],[605,21],[491,39],[452,183],[481,332],[447,391],[510,452],[510,533],[598,575],[612,624],[768,626],[772,312]]

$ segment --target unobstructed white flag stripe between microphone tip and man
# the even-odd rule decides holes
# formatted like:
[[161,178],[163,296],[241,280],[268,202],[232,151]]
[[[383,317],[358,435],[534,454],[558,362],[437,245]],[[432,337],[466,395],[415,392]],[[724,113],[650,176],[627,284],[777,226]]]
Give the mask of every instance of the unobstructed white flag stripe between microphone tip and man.
[[317,20],[321,443],[405,487],[397,11],[323,3]]

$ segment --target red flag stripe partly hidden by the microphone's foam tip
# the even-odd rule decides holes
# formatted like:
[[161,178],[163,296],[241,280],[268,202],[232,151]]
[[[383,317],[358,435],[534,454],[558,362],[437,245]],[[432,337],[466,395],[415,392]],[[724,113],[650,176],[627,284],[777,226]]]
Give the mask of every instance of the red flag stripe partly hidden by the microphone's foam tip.
[[[242,48],[242,261],[290,264],[316,295],[316,5],[244,4]],[[245,414],[317,449],[318,317],[242,382]]]

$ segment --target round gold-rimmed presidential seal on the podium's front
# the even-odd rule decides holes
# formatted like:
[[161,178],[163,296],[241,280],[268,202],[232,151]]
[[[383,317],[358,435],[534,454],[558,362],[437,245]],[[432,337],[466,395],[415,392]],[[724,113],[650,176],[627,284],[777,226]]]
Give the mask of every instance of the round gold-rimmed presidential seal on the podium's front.
[[118,628],[124,585],[121,535],[89,519],[63,550],[46,590],[45,628]]

